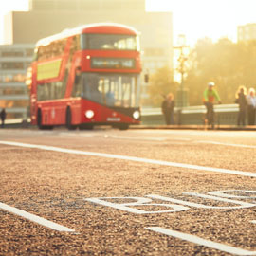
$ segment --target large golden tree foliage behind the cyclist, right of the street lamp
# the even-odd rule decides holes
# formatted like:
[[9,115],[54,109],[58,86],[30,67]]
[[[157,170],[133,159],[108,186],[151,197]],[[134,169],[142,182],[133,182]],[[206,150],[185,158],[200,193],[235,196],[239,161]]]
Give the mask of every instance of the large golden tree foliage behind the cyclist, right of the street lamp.
[[186,78],[191,105],[202,103],[207,83],[216,83],[224,103],[233,103],[239,85],[247,88],[256,84],[256,41],[234,44],[221,39],[197,42],[190,56],[190,70]]

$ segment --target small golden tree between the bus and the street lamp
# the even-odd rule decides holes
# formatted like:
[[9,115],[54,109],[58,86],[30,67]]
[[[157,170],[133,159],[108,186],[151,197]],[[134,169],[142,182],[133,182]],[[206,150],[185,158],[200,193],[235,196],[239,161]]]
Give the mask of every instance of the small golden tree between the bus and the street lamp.
[[149,80],[149,95],[155,107],[159,107],[165,96],[175,94],[177,82],[174,82],[174,72],[168,66],[159,68]]

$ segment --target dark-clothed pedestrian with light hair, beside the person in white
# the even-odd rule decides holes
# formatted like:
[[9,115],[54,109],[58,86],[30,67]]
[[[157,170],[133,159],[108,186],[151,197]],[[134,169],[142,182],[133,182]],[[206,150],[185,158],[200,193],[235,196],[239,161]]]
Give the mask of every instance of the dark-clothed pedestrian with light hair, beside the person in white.
[[235,95],[235,103],[239,105],[239,112],[237,116],[237,125],[246,125],[247,114],[247,88],[245,86],[239,86]]

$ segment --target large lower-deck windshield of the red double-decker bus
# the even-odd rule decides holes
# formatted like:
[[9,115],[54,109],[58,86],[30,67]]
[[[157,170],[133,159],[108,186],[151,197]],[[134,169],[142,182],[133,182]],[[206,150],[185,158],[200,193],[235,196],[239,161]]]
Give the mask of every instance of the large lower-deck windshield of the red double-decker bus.
[[75,79],[73,97],[108,106],[137,107],[137,75],[82,73]]

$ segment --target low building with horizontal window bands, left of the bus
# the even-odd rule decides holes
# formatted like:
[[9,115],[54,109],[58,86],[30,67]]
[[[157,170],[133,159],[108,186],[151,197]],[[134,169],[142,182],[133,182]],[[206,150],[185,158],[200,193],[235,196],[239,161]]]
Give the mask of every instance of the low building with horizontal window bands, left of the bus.
[[34,45],[0,46],[0,108],[7,119],[27,119],[29,94],[25,83]]

